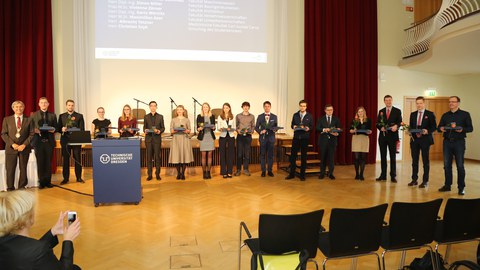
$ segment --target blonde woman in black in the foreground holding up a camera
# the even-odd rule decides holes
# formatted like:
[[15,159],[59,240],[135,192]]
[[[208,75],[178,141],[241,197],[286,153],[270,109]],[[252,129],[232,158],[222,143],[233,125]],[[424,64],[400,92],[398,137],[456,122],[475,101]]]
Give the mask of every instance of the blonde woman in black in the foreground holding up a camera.
[[[67,212],[40,240],[30,237],[35,221],[35,194],[26,190],[0,193],[0,265],[2,269],[80,269],[73,264],[73,240],[80,234],[77,218],[63,226]],[[62,255],[55,257],[57,235],[63,234]]]

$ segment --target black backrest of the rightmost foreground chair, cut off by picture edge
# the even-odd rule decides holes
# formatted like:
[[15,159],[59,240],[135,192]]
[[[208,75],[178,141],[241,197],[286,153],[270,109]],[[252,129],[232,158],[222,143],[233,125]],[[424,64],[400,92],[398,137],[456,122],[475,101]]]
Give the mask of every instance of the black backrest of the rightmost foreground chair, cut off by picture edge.
[[465,241],[480,237],[480,198],[449,199],[438,222],[437,242]]

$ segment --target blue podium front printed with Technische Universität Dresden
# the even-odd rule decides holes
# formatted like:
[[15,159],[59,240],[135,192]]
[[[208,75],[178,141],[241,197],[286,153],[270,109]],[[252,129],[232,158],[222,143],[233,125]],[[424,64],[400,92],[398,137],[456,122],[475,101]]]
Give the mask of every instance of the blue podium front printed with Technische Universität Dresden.
[[95,206],[141,201],[140,140],[93,140],[92,157]]

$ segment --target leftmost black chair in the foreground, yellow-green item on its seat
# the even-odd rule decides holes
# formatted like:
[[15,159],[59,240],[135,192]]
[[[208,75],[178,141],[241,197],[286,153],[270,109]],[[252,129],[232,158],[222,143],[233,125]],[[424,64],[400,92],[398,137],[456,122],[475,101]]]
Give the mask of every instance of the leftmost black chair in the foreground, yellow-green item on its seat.
[[[271,258],[271,255],[285,256],[292,252],[298,255],[298,269],[305,269],[307,261],[315,263],[318,269],[317,262],[313,258],[317,255],[317,241],[323,213],[324,210],[294,215],[260,214],[258,238],[252,238],[246,224],[241,222],[238,269],[241,269],[241,249],[245,245],[253,253],[251,269],[263,269],[265,258]],[[248,236],[244,241],[242,241],[243,230]],[[260,267],[259,262],[262,264]]]

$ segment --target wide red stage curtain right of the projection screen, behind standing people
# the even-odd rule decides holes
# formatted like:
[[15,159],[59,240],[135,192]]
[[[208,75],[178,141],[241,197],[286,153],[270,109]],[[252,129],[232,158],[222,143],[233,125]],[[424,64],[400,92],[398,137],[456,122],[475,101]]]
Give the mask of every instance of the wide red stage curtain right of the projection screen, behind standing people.
[[[377,66],[377,0],[305,0],[305,100],[315,118],[332,104],[349,130],[355,109],[364,106],[374,124]],[[341,134],[336,163],[352,164],[351,138]],[[369,163],[375,162],[376,145],[374,130]]]

